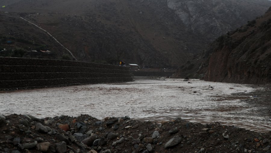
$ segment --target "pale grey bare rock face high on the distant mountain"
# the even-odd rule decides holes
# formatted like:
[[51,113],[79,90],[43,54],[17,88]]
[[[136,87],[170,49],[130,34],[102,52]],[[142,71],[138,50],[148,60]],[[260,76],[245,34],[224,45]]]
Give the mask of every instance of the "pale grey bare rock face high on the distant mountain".
[[212,41],[261,16],[270,4],[266,0],[167,0],[185,26]]

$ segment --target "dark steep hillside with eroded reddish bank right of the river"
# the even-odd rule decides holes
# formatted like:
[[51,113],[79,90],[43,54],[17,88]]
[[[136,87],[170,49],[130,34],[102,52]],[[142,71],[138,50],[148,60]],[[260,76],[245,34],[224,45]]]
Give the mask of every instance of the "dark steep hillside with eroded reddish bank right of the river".
[[[270,83],[270,11],[271,8],[265,15],[217,38],[194,61],[179,68],[175,76],[190,73],[190,77],[202,77],[206,81]],[[195,68],[188,70],[190,64],[196,65]]]

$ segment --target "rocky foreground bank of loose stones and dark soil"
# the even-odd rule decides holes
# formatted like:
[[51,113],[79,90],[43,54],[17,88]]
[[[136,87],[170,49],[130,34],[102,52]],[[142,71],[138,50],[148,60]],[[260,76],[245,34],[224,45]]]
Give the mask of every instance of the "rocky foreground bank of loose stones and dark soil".
[[88,115],[38,119],[0,114],[0,153],[128,153],[128,152],[271,152],[271,132],[256,133],[219,123],[200,124],[176,118],[140,122],[129,116]]

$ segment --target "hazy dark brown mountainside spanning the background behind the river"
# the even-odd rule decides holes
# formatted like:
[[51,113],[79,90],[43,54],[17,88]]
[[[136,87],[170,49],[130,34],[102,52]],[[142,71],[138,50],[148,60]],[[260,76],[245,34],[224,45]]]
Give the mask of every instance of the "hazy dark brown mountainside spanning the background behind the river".
[[[212,40],[261,16],[271,6],[267,0],[0,0],[0,4],[6,6],[2,10],[21,12],[20,16],[50,32],[79,61],[115,64],[122,59],[158,67],[191,61]],[[33,41],[39,29],[18,14],[1,13],[6,24],[1,35]],[[12,35],[22,33],[20,27],[31,30]],[[49,39],[39,37],[39,44],[61,57],[64,49],[53,47]]]

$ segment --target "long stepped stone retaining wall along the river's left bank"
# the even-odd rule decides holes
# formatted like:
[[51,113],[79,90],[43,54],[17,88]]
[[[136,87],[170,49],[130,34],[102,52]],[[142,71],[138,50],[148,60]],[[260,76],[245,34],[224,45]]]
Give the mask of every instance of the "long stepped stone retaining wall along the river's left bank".
[[132,81],[128,67],[37,58],[0,57],[0,90]]

